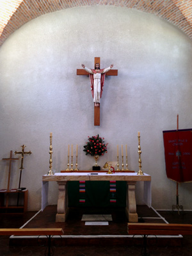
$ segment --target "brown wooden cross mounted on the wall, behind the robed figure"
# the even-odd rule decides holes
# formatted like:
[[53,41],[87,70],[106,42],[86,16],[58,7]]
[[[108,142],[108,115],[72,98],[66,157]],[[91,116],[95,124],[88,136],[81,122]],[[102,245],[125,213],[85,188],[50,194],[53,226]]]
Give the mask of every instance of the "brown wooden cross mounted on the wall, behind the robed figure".
[[[99,63],[100,66],[100,57],[95,57],[95,63]],[[88,76],[88,72],[84,69],[77,69],[77,76]],[[118,76],[118,70],[111,69],[106,73],[106,76]],[[94,125],[100,125],[100,106],[94,106]]]

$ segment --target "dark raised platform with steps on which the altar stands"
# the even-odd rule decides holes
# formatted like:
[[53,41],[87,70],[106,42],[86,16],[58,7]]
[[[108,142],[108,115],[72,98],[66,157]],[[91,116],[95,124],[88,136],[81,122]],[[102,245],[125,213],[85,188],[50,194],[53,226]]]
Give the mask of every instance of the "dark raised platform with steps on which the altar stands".
[[[63,228],[64,236],[54,237],[54,242],[62,245],[93,245],[93,244],[113,244],[129,245],[142,244],[141,236],[129,236],[127,234],[127,217],[124,208],[70,208],[67,221],[56,223],[56,205],[47,206],[43,212],[31,218],[22,228]],[[139,222],[145,223],[166,223],[166,220],[154,209],[147,205],[137,205]],[[111,214],[112,221],[109,225],[85,225],[82,221],[83,214]],[[45,237],[46,238],[46,237]],[[182,236],[159,236],[149,237],[148,243],[161,245],[179,246],[182,243]],[[44,237],[41,237],[41,241]],[[37,244],[38,237],[10,237],[10,245],[16,244]]]

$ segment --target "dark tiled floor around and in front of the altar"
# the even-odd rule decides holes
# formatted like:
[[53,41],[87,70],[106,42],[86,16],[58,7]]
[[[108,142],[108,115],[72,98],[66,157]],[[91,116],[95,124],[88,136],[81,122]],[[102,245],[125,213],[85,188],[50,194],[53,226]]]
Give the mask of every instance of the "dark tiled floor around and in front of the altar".
[[[153,211],[147,206],[137,207],[141,222],[147,223],[189,223],[192,222],[192,212],[177,211]],[[56,206],[46,207],[44,212],[39,212],[31,219],[36,212],[26,214],[1,214],[1,228],[25,228],[39,227],[62,227],[65,230],[64,236],[67,239],[55,239],[52,241],[53,253],[55,256],[124,256],[141,255],[142,240],[127,237],[127,218],[124,209],[70,209],[70,214],[65,223],[56,223]],[[108,226],[85,226],[81,221],[83,214],[111,214],[113,221]],[[162,216],[162,217],[161,217]],[[31,219],[31,220],[30,220]],[[30,220],[28,223],[27,221]],[[25,225],[26,223],[26,225]],[[102,235],[102,237],[100,237]],[[91,237],[90,237],[91,236]],[[90,237],[90,238],[88,238]],[[16,255],[45,255],[44,242],[40,239],[20,239],[20,242],[13,242],[9,245],[9,237],[0,237],[0,256]],[[151,256],[164,255],[192,255],[192,236],[184,236],[182,244],[176,239],[152,239],[148,244]]]

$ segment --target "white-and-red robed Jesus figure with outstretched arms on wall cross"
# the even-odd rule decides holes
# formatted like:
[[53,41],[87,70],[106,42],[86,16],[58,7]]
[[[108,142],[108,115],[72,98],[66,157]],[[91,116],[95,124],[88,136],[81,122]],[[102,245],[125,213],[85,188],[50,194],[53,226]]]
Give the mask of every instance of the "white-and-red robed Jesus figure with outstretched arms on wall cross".
[[84,66],[84,64],[82,64],[82,67],[90,74],[93,102],[96,107],[99,107],[106,75],[105,73],[113,68],[113,64],[111,64],[111,66],[108,68],[102,69],[100,69],[99,63],[95,63],[95,69],[87,68]]

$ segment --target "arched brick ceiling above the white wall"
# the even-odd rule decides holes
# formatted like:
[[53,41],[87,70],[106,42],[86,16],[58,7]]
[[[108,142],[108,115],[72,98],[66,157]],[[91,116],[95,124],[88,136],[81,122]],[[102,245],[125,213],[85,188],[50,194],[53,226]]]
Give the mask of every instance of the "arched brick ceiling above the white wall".
[[192,39],[191,0],[1,0],[0,45],[20,26],[40,15],[86,5],[122,6],[152,13],[171,22]]

